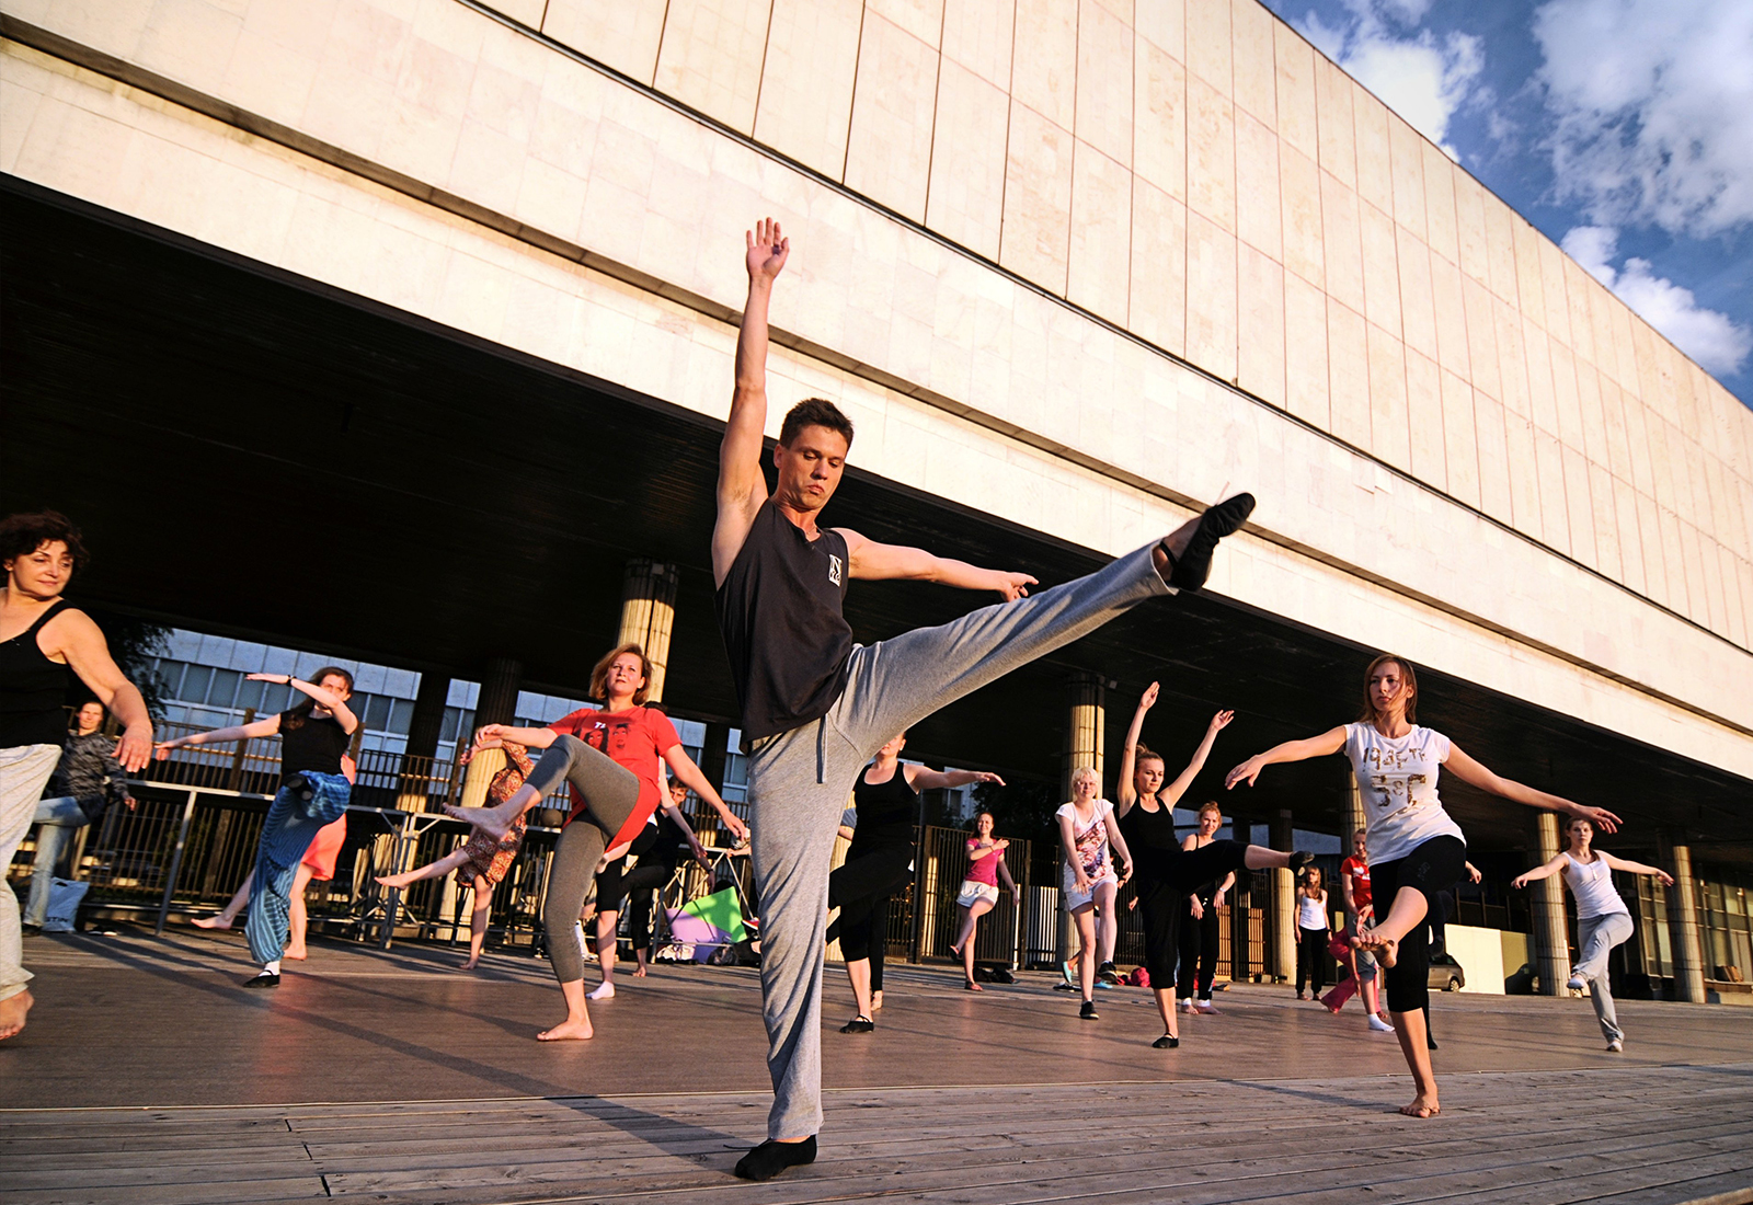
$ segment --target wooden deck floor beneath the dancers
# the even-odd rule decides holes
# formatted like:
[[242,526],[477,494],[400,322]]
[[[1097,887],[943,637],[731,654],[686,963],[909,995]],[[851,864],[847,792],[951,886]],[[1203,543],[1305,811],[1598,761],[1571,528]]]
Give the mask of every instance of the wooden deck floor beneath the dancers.
[[661,970],[554,1049],[519,1016],[545,1019],[552,983],[512,960],[484,981],[330,946],[270,1000],[231,986],[228,942],[26,962],[0,1205],[1753,1201],[1753,1011],[1629,1002],[1615,1058],[1583,1002],[1441,998],[1443,1116],[1418,1123],[1392,1112],[1392,1039],[1283,990],[1224,993],[1164,1053],[1141,991],[1085,1025],[1045,977],[969,997],[898,970],[875,1035],[824,1035],[820,1159],[750,1186],[729,1168],[770,1098],[738,972]]

